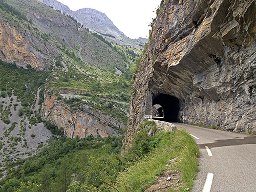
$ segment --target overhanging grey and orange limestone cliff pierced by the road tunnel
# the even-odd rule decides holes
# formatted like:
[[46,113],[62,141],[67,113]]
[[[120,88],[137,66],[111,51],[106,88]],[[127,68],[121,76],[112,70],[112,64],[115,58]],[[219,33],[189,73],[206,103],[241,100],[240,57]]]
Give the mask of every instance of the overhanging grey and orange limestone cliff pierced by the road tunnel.
[[256,132],[255,3],[162,1],[134,76],[125,144],[161,94],[178,99],[180,122]]

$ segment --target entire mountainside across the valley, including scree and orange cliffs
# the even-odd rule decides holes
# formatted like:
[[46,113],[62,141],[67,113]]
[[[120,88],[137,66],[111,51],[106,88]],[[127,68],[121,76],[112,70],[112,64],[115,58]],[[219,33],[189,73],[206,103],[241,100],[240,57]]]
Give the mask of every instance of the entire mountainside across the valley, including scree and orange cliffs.
[[134,50],[38,1],[0,0],[0,179],[53,135],[121,135]]

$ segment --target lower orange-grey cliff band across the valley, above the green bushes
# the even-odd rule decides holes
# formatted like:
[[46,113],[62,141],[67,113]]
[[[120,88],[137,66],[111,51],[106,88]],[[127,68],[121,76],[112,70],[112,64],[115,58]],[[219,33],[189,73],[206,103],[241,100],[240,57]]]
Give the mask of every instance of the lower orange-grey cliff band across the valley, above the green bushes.
[[[67,137],[79,139],[90,135],[94,137],[120,136],[116,130],[124,129],[124,124],[104,115],[101,112],[83,106],[83,111],[72,111],[57,99],[57,94],[45,92],[45,102],[42,104],[41,117],[51,120],[59,129],[63,129]],[[115,128],[115,129],[114,129]]]

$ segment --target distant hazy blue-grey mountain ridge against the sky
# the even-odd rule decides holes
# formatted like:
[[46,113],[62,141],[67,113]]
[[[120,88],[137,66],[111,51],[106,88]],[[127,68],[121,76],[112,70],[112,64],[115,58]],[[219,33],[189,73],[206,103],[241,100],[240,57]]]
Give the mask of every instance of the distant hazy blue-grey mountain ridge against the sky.
[[119,45],[132,46],[141,48],[141,44],[145,44],[148,40],[146,38],[139,37],[138,39],[131,39],[124,35],[106,16],[105,13],[97,11],[91,8],[82,8],[77,11],[72,11],[68,6],[56,0],[38,0],[48,6],[53,7],[55,10],[59,10],[61,13],[65,13],[74,17],[83,26],[88,27],[90,30],[96,31],[104,35],[106,38]]

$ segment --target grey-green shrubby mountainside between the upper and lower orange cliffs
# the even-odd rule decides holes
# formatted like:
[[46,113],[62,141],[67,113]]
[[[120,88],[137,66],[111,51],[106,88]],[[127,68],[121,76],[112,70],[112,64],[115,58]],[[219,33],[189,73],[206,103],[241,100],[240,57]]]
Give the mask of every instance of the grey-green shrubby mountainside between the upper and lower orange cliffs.
[[[97,110],[108,115],[104,106],[114,102],[126,116],[137,57],[134,49],[113,44],[38,1],[3,2],[9,7],[0,9],[2,23],[14,26],[36,52],[41,68],[51,71],[46,84],[49,90],[82,90],[87,96],[84,99]],[[13,14],[12,9],[20,14]],[[124,116],[122,122],[127,121]]]

